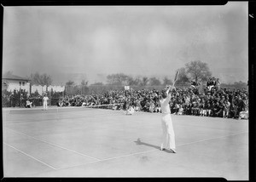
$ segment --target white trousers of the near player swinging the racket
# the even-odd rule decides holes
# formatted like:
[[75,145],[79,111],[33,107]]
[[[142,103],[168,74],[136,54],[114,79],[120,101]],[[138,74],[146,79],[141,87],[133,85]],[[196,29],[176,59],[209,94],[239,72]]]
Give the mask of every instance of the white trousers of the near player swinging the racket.
[[175,134],[172,126],[171,114],[162,116],[163,140],[161,147],[164,149],[176,149]]

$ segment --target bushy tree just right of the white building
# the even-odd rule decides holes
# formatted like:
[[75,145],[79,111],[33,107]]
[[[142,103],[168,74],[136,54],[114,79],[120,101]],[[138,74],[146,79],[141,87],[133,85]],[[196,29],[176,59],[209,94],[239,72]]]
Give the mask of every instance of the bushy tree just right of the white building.
[[46,73],[43,75],[40,75],[38,72],[32,73],[30,79],[32,84],[46,85],[47,87],[52,83],[52,78]]

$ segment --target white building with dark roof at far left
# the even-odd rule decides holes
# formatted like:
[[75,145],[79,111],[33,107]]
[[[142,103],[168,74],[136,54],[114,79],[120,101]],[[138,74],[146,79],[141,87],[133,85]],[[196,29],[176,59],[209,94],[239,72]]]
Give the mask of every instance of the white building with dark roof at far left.
[[15,75],[3,75],[2,90],[3,89],[6,89],[9,92],[22,89],[30,94],[30,79],[25,77],[18,77]]

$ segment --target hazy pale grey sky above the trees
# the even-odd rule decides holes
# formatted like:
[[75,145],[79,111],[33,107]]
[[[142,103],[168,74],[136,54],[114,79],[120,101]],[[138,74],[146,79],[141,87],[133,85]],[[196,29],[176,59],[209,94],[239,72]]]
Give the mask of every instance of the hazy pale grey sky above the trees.
[[247,82],[247,2],[3,9],[3,73],[38,71],[54,84],[106,82],[115,73],[173,79],[194,60],[221,82]]

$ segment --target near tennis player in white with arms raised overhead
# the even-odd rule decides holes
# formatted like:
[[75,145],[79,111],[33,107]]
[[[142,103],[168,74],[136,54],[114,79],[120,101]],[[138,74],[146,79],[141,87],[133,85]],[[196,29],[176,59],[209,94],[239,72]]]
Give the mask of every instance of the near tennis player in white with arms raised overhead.
[[172,153],[176,153],[175,145],[175,134],[172,126],[172,117],[169,102],[171,100],[171,93],[169,92],[174,87],[167,86],[165,90],[162,91],[162,96],[160,99],[160,108],[162,111],[162,129],[163,129],[163,140],[160,146],[160,150],[169,149]]

